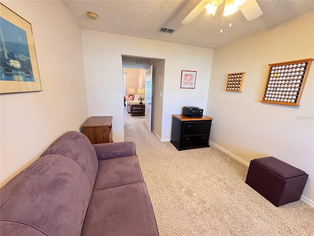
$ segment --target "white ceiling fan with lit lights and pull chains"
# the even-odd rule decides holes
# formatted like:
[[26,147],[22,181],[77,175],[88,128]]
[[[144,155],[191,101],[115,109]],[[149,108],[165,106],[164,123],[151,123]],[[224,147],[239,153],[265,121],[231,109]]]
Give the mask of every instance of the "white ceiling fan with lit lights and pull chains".
[[[216,10],[224,0],[201,0],[200,3],[184,18],[182,24],[191,23],[203,10],[215,15]],[[263,14],[256,0],[225,0],[224,16],[231,15],[237,10],[241,10],[248,21],[251,21]]]

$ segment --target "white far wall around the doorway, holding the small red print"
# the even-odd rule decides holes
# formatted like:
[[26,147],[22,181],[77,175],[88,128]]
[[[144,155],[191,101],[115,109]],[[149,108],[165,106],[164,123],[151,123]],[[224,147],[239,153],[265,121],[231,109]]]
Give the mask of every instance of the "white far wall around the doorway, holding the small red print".
[[[113,116],[115,142],[124,140],[121,55],[165,59],[162,140],[170,140],[171,115],[180,114],[183,106],[206,111],[212,49],[84,29],[82,43],[88,113]],[[197,71],[195,89],[180,89],[182,70]]]

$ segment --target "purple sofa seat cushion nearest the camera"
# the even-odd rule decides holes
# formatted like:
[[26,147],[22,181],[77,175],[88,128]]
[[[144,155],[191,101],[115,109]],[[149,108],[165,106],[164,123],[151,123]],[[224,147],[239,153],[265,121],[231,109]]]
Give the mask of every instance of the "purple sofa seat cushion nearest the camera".
[[153,207],[144,182],[96,190],[82,236],[157,236]]

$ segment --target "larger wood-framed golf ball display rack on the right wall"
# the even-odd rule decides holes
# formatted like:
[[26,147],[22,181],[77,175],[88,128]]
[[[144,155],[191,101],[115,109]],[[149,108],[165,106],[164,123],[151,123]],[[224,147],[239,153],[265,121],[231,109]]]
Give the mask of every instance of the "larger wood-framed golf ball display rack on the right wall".
[[269,64],[261,102],[299,106],[313,59]]

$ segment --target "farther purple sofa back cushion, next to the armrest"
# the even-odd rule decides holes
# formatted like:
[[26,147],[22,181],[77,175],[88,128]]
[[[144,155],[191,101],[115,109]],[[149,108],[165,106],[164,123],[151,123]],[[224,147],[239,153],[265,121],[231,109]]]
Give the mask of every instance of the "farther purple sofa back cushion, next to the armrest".
[[98,159],[96,151],[89,139],[77,131],[69,131],[55,140],[41,155],[59,154],[73,159],[84,170],[92,185],[94,185]]

